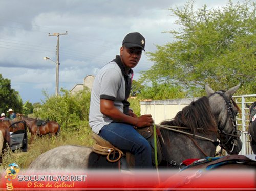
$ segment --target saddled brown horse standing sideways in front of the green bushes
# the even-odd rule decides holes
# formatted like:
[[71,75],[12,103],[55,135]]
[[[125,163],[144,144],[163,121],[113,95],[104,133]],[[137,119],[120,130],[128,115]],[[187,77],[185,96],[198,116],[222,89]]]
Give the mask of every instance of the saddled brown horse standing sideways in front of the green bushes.
[[57,136],[60,132],[60,125],[55,121],[46,121],[46,123],[42,123],[41,125],[37,125],[39,120],[34,118],[22,117],[21,120],[25,121],[29,132],[31,133],[31,138],[36,135],[47,135],[50,134],[51,137],[54,135]]

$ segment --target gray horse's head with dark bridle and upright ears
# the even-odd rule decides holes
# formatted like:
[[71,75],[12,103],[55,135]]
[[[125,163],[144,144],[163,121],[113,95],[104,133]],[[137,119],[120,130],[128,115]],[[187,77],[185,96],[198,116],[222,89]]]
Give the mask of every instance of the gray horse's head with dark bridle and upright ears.
[[214,92],[208,85],[205,85],[210,107],[218,125],[218,139],[221,147],[228,154],[238,154],[242,149],[242,141],[239,138],[240,133],[236,124],[239,107],[232,100],[233,94],[239,87],[240,84],[227,91]]

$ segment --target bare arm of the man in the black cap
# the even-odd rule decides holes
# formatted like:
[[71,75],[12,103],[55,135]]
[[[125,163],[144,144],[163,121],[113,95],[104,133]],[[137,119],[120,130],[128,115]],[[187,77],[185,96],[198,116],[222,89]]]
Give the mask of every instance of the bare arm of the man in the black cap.
[[125,115],[115,107],[112,100],[100,99],[100,112],[115,122],[123,122],[136,127],[146,127],[153,124],[151,115],[141,115],[138,118]]

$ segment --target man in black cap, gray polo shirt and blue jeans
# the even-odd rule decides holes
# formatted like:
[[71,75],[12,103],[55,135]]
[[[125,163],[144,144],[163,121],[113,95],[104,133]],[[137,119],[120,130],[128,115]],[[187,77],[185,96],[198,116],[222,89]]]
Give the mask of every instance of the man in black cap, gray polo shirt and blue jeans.
[[136,129],[153,124],[151,115],[137,117],[129,108],[133,70],[141,58],[145,38],[138,32],[125,36],[120,56],[103,66],[95,77],[89,124],[96,134],[135,155],[136,168],[152,167],[151,147]]

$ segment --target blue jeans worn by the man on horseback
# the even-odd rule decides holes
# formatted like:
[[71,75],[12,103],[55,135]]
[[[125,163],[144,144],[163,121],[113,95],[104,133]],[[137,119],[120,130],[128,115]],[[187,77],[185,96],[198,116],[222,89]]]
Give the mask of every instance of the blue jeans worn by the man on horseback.
[[133,126],[123,123],[110,123],[102,127],[99,135],[119,149],[135,155],[135,167],[152,167],[151,147]]

